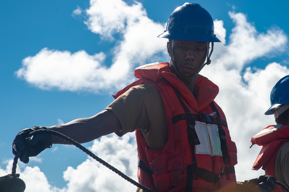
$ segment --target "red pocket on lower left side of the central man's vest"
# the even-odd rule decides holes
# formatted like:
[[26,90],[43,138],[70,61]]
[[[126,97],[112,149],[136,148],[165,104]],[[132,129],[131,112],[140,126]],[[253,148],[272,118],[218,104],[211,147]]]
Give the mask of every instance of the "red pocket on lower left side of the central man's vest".
[[[184,161],[186,146],[179,145],[161,152],[146,149],[147,154],[153,157],[150,167],[153,170],[153,179],[156,191],[168,191],[174,186],[184,183]],[[151,156],[151,155],[148,155]]]

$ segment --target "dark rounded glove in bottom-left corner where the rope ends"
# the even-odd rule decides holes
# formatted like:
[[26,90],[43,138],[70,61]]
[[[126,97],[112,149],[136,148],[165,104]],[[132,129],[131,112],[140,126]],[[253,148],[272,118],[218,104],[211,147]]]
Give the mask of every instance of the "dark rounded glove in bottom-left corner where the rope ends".
[[25,183],[19,178],[19,174],[0,177],[0,192],[23,192],[24,190]]

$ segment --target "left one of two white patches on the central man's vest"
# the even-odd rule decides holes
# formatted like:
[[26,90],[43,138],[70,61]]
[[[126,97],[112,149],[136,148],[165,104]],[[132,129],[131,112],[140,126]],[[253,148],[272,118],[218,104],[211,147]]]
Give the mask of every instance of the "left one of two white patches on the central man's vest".
[[206,123],[196,121],[195,130],[198,135],[199,141],[201,143],[199,145],[196,145],[196,153],[212,155],[209,133],[208,133]]

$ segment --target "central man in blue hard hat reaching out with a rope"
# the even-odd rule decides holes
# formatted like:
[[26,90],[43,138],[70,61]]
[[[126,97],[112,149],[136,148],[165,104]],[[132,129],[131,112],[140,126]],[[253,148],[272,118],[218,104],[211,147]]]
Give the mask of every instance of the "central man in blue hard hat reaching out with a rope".
[[211,63],[214,42],[220,42],[212,16],[197,3],[185,3],[172,12],[158,37],[168,39],[170,63],[136,68],[139,80],[113,95],[116,100],[95,116],[24,129],[13,141],[14,155],[28,163],[52,143],[67,144],[54,136],[32,137],[38,129],[58,131],[80,143],[135,131],[138,181],[153,191],[272,191],[272,177],[237,185],[237,149],[214,101],[218,86],[199,75]]

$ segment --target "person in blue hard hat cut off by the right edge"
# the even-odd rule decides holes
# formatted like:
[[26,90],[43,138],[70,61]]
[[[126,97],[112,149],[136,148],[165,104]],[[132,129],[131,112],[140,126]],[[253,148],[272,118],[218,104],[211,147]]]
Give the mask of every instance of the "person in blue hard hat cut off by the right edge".
[[[289,75],[275,84],[270,101],[265,115],[274,114],[277,125],[270,125],[252,137],[252,144],[263,146],[252,169],[262,167],[265,175],[274,176],[289,187]],[[279,186],[274,190],[281,191],[284,190]]]

